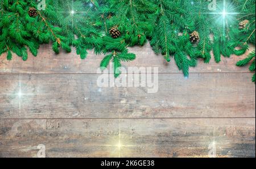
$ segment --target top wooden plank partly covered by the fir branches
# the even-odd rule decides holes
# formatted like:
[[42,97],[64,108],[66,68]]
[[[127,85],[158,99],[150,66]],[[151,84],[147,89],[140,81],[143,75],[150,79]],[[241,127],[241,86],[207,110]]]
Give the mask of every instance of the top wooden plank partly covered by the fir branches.
[[[210,61],[210,64],[204,64],[203,60],[200,60],[197,67],[190,69],[191,73],[242,73],[249,72],[248,66],[237,67],[236,62],[245,58],[252,50],[255,50],[254,46],[250,47],[250,50],[243,54],[243,56],[232,56],[231,58],[222,58],[220,64],[216,64],[214,59]],[[137,54],[137,59],[133,62],[123,63],[124,67],[137,66],[137,67],[159,67],[160,73],[180,73],[179,69],[172,59],[170,63],[167,63],[162,56],[157,55],[151,49],[150,44],[146,44],[144,47],[130,48],[130,52]],[[12,61],[6,60],[6,54],[0,57],[0,74],[20,74],[20,73],[35,73],[35,74],[51,74],[51,73],[97,73],[97,69],[100,66],[100,62],[104,57],[103,54],[96,55],[92,51],[89,51],[88,58],[81,60],[77,56],[75,49],[72,53],[60,52],[56,55],[50,45],[42,45],[39,50],[38,57],[34,57],[31,53],[28,54],[28,60],[23,62],[21,58],[14,56]],[[214,57],[212,57],[214,58]]]

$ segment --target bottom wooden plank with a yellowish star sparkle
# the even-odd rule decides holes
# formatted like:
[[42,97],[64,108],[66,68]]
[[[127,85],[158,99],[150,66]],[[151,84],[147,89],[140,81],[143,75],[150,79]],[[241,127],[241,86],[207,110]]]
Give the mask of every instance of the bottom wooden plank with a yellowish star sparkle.
[[255,119],[0,120],[0,157],[255,157]]

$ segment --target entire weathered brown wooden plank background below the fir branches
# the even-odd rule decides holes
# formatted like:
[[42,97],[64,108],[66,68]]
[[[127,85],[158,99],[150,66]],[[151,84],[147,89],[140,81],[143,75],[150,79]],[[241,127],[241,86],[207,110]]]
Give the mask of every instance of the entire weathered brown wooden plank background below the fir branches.
[[148,44],[130,50],[126,67],[159,67],[156,94],[97,87],[93,52],[1,56],[0,157],[38,157],[42,145],[46,157],[255,157],[255,84],[236,66],[246,55],[200,61],[186,79]]

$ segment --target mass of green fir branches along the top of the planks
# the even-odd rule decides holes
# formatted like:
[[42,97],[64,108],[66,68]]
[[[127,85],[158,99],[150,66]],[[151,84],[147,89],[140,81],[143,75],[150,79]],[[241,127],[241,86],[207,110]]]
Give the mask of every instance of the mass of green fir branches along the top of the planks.
[[[82,59],[86,58],[88,49],[94,49],[95,53],[110,52],[101,65],[106,67],[113,60],[120,66],[121,61],[135,59],[134,54],[127,52],[127,47],[144,45],[150,40],[154,51],[162,53],[167,61],[174,56],[177,66],[187,76],[189,66],[196,66],[197,57],[210,61],[210,50],[216,62],[220,62],[221,54],[225,57],[233,53],[241,55],[246,52],[247,44],[255,45],[255,0],[235,2],[237,11],[242,11],[236,16],[237,20],[249,20],[245,28],[238,29],[237,23],[225,22],[223,31],[222,25],[216,24],[218,14],[210,15],[205,8],[208,2],[202,0],[194,1],[193,5],[176,0],[72,0],[72,8],[71,0],[46,3],[46,11],[38,11],[38,16],[32,18],[26,11],[28,7],[36,7],[36,2],[0,1],[0,54],[7,52],[7,59],[11,59],[12,53],[16,53],[26,60],[27,48],[36,56],[39,44],[53,41],[56,53],[59,47],[70,52],[71,45]],[[218,2],[219,5],[222,4]],[[76,10],[74,14],[70,13],[72,10]],[[108,28],[113,26],[118,26],[121,32],[117,39],[108,33]],[[193,31],[200,34],[197,45],[189,41],[187,33]],[[182,32],[183,35],[178,35]],[[213,41],[210,33],[214,35]],[[235,50],[235,47],[241,49]],[[247,58],[238,65],[252,61],[250,70],[255,70],[254,58],[250,61]]]

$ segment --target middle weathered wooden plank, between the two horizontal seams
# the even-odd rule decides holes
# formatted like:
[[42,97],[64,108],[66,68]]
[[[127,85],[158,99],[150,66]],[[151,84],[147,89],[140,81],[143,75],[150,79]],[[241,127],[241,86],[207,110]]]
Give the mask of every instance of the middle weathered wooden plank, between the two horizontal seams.
[[0,75],[0,119],[255,117],[251,75],[159,74],[153,94],[98,87],[100,74]]

